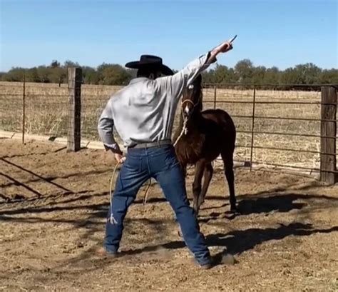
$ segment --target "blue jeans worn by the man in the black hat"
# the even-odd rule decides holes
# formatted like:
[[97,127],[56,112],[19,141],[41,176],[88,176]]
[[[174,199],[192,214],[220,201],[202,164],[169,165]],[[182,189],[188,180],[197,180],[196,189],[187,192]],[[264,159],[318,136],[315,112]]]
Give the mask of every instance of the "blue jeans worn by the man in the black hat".
[[[113,193],[113,218],[106,223],[104,246],[108,252],[116,253],[123,233],[123,220],[128,207],[135,200],[140,187],[149,178],[155,178],[175,212],[185,244],[201,265],[210,263],[210,253],[205,238],[200,233],[193,208],[190,207],[185,190],[185,179],[173,146],[131,148],[121,167]],[[107,219],[111,216],[109,208]]]

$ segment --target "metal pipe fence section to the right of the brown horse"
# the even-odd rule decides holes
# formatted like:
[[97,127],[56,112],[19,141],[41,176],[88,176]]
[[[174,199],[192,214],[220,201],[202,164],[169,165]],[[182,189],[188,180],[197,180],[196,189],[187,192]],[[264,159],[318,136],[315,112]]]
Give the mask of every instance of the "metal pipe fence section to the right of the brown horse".
[[[204,103],[213,103],[209,108],[225,109],[235,120],[237,161],[246,162],[250,165],[250,170],[254,164],[262,164],[298,168],[309,172],[338,173],[337,163],[334,169],[319,166],[321,156],[331,156],[337,161],[337,128],[330,135],[321,133],[322,124],[337,124],[337,116],[329,119],[321,114],[324,107],[337,108],[337,98],[328,102],[323,100],[322,94],[319,93],[320,88],[328,86],[327,84],[312,86],[314,91],[287,91],[287,96],[277,89],[282,86],[290,87],[292,84],[260,86],[264,91],[257,90],[256,85],[247,85],[243,89],[239,84],[224,84],[217,90],[217,99],[214,97],[210,101],[208,90],[214,86],[215,84],[205,85],[204,96],[207,96],[207,99],[204,99]],[[338,86],[329,87],[333,87],[337,94]],[[311,86],[297,85],[295,88],[310,89]],[[320,150],[322,139],[333,141],[334,149]],[[249,153],[242,151],[243,148],[249,150]]]

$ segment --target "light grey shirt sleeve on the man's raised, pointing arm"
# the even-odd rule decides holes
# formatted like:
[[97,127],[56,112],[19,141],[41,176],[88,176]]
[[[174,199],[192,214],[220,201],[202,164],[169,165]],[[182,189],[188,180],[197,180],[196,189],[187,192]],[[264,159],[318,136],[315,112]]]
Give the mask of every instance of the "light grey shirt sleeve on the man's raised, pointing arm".
[[[210,66],[207,63],[210,57],[210,52],[200,56],[198,59],[191,61],[187,66],[182,70],[178,71],[172,76],[165,76],[158,79],[155,79],[155,84],[159,91],[165,91],[170,96],[179,98],[183,93],[183,90],[193,83],[194,79],[198,74],[203,72],[205,69],[208,69]],[[213,62],[215,62],[214,60]]]

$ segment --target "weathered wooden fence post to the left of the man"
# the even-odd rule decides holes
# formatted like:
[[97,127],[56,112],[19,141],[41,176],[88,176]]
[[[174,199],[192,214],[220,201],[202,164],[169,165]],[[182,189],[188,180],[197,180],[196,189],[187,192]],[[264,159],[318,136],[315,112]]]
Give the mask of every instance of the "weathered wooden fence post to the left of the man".
[[68,68],[68,152],[81,148],[81,83],[82,69]]

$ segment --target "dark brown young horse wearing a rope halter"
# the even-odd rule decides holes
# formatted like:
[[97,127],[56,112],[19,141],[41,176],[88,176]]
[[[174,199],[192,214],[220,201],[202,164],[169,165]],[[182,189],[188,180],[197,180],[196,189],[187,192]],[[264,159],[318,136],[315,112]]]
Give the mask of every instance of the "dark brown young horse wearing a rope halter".
[[237,211],[233,172],[235,124],[226,111],[221,109],[203,111],[201,75],[196,77],[193,84],[183,94],[181,111],[180,126],[174,135],[174,141],[177,141],[175,152],[184,175],[188,164],[195,165],[193,208],[196,216],[204,202],[205,193],[208,191],[212,178],[212,161],[219,155],[224,163],[225,177],[229,187],[230,211]]

